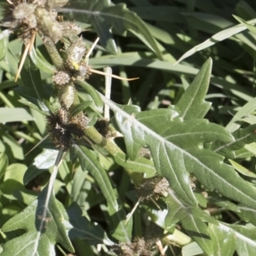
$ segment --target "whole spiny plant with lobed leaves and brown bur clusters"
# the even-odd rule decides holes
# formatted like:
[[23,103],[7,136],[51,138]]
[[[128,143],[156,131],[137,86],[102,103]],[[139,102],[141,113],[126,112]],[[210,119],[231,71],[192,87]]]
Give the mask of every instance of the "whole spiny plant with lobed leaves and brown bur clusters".
[[[148,55],[164,59],[148,26],[124,4],[97,3],[71,2],[68,9],[83,8],[83,19],[99,32],[106,49],[114,51],[108,29],[115,20],[117,31],[131,30],[154,49]],[[13,74],[23,86],[15,92],[47,124],[40,145],[44,151],[22,171],[23,183],[32,189],[15,183],[17,189],[8,190],[12,172],[7,156],[1,155],[1,204],[17,200],[22,209],[1,228],[1,255],[173,255],[173,247],[185,244],[207,255],[235,250],[242,255],[244,248],[253,255],[255,227],[227,224],[211,212],[239,214],[256,208],[253,185],[227,161],[255,142],[256,126],[231,133],[205,119],[211,108],[205,97],[212,60],[205,61],[175,105],[141,111],[131,103],[116,104],[84,81],[101,73],[89,66],[96,41],[87,49],[83,28],[57,13],[65,13],[66,4],[9,2],[1,23],[7,27],[4,45],[10,32],[24,43]],[[44,44],[44,55],[37,40]],[[10,60],[8,53],[4,57]],[[90,101],[84,100],[89,96]],[[113,112],[110,120],[102,119],[103,103]],[[37,186],[38,177],[45,180]],[[251,215],[247,218],[253,223]]]

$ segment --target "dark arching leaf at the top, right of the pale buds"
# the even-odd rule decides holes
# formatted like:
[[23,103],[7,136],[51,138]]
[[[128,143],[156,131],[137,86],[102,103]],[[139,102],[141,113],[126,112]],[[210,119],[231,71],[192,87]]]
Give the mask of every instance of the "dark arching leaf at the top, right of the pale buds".
[[149,32],[148,26],[136,13],[126,9],[125,3],[113,5],[109,0],[72,1],[68,9],[60,9],[63,12],[68,10],[72,13],[69,14],[69,17],[92,24],[101,39],[102,45],[112,54],[117,54],[117,47],[112,34],[109,32],[114,27],[120,33],[126,30],[138,33],[143,41],[162,59],[160,49],[151,32]]

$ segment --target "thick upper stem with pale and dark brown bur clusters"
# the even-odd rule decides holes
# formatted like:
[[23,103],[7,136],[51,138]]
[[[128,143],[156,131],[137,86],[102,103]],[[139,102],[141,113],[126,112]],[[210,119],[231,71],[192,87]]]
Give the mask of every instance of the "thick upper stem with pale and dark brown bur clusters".
[[[55,64],[53,82],[61,104],[61,109],[47,118],[49,134],[56,147],[66,150],[73,138],[84,136],[87,125],[84,113],[81,112],[73,117],[70,114],[71,109],[78,103],[74,81],[86,79],[90,74],[86,60],[86,46],[83,38],[78,36],[82,29],[73,22],[63,21],[55,12],[56,8],[63,7],[68,0],[14,1],[9,2],[1,25],[9,27],[10,30],[18,29],[20,38],[26,44],[26,53],[32,49],[36,33],[43,39],[49,56]],[[62,57],[55,47],[59,41],[64,48]],[[23,57],[22,59],[25,60]],[[16,79],[18,76],[19,73]]]

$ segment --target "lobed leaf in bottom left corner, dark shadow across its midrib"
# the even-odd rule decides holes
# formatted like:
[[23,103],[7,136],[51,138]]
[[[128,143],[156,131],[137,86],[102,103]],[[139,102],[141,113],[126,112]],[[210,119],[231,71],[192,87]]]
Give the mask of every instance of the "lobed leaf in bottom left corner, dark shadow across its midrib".
[[1,256],[54,256],[56,243],[74,252],[54,195],[50,195],[49,202],[46,200],[48,189],[46,186],[38,200],[3,225],[3,232],[20,229],[26,230],[26,233],[7,241]]

